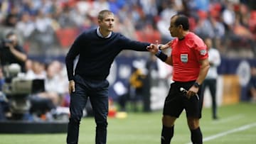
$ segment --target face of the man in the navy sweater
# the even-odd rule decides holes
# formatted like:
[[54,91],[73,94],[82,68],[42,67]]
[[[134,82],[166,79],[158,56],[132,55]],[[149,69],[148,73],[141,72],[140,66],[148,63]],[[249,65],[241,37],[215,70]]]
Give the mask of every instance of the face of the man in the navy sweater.
[[98,20],[100,30],[104,33],[110,33],[114,28],[114,15],[106,14],[102,20]]

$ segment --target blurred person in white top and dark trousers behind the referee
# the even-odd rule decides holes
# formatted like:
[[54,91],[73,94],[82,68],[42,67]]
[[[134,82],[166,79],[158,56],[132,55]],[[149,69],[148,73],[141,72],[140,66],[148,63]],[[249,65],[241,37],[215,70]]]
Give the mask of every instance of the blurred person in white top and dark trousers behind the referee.
[[210,69],[206,75],[206,79],[203,81],[202,92],[205,92],[206,88],[210,89],[210,96],[212,99],[212,111],[213,119],[218,119],[217,113],[217,102],[216,102],[216,87],[217,87],[217,78],[218,71],[217,67],[220,65],[220,52],[217,49],[213,48],[213,43],[210,38],[204,40],[208,50],[208,60],[210,64]]

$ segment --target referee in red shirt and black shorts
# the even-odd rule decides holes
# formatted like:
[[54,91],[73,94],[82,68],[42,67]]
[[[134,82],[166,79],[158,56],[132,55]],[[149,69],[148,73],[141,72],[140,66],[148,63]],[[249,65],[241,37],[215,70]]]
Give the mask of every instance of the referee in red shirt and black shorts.
[[[203,135],[199,126],[203,106],[201,84],[210,66],[206,45],[201,38],[188,29],[189,23],[186,16],[172,16],[169,31],[171,36],[176,38],[161,47],[157,44],[157,46],[151,45],[147,48],[160,60],[174,68],[174,83],[171,84],[164,103],[161,144],[171,143],[171,138],[174,136],[174,122],[183,109],[186,110],[192,143],[203,143]],[[171,48],[171,55],[165,55],[159,48]],[[186,90],[181,92],[180,89]]]

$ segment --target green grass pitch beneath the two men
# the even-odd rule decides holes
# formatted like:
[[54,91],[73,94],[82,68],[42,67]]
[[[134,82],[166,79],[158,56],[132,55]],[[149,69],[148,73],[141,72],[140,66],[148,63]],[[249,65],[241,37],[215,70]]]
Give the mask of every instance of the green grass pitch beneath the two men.
[[[203,109],[201,130],[206,144],[256,143],[256,104],[240,103],[221,106],[220,119],[213,121],[211,109]],[[108,144],[157,144],[160,143],[161,111],[128,113],[124,119],[109,118]],[[60,134],[0,134],[0,144],[64,144],[65,133]],[[80,144],[95,143],[95,122],[83,118],[80,125]],[[177,119],[172,143],[187,144],[190,132],[185,113]]]

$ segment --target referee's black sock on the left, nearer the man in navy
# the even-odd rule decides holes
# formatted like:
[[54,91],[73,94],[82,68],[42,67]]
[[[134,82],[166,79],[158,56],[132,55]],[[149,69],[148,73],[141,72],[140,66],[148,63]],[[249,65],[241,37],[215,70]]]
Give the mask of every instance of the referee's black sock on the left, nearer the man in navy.
[[166,127],[163,126],[161,131],[161,144],[171,143],[171,138],[174,136],[174,126]]

